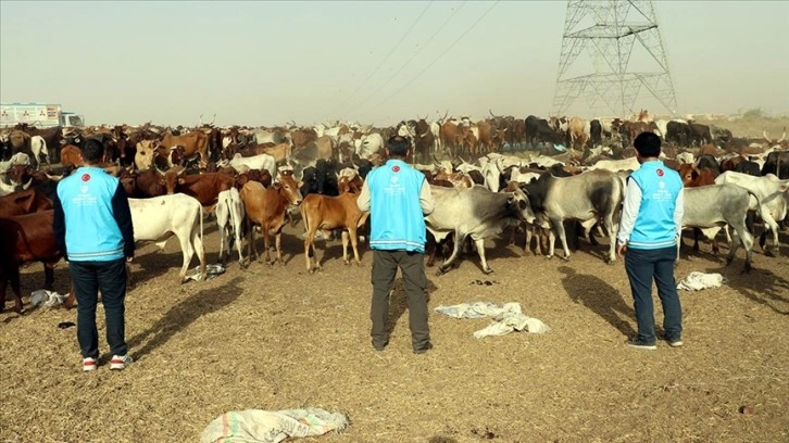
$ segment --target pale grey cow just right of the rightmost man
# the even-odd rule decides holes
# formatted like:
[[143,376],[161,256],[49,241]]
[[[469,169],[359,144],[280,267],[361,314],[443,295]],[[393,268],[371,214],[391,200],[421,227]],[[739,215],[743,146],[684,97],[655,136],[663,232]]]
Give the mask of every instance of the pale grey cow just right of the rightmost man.
[[[734,183],[686,188],[684,192],[682,229],[700,228],[701,232],[712,240],[725,225],[731,226],[735,228],[737,236],[731,242],[731,248],[729,248],[726,264],[731,263],[741,241],[746,249],[743,271],[750,273],[753,237],[746,229],[746,214],[748,213],[749,197],[753,195],[757,202],[759,197],[752,191]],[[679,261],[680,244],[681,242],[677,242],[677,261]]]

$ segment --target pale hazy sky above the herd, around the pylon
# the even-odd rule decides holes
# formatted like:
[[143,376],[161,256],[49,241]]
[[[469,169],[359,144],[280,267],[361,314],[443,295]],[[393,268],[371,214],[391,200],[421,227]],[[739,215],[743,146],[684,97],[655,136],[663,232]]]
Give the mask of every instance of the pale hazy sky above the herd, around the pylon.
[[[680,113],[789,111],[789,2],[654,3]],[[88,124],[546,116],[565,11],[565,1],[0,1],[0,100],[60,103]]]

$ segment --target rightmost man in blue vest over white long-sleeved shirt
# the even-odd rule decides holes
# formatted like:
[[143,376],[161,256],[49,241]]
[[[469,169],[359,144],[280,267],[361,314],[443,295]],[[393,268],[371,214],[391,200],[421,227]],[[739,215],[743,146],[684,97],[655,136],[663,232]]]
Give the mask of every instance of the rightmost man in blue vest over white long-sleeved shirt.
[[625,269],[630,280],[638,334],[627,344],[655,350],[652,280],[663,304],[663,330],[673,347],[682,345],[682,308],[674,280],[677,242],[680,241],[684,199],[679,174],[660,160],[661,139],[642,132],[634,141],[641,167],[630,174],[617,236],[616,252],[625,252]]

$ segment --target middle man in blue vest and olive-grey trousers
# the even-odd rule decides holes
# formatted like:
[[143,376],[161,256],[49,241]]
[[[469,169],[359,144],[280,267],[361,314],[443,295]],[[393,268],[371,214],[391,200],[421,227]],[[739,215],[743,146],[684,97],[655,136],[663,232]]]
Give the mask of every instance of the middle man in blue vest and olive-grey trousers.
[[387,141],[389,161],[373,169],[364,181],[356,205],[370,211],[370,248],[373,249],[373,347],[383,351],[389,343],[386,320],[389,292],[398,267],[409,299],[409,326],[414,353],[430,349],[425,287],[425,215],[434,208],[430,186],[425,175],[405,163],[409,140],[394,136]]

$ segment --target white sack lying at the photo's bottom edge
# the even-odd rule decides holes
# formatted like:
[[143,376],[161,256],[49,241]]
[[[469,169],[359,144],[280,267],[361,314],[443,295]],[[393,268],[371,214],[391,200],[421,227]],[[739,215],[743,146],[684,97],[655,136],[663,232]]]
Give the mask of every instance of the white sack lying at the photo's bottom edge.
[[213,419],[200,435],[200,443],[278,443],[293,436],[323,435],[342,431],[348,417],[321,408],[225,413]]

